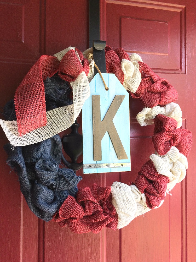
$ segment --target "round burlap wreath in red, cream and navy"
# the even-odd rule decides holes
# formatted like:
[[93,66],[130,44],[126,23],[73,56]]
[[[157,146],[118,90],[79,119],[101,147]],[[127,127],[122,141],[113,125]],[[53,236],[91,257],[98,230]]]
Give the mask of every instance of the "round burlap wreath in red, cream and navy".
[[[18,176],[28,206],[45,221],[66,225],[75,233],[116,230],[135,217],[162,205],[165,196],[186,176],[192,133],[181,129],[177,91],[156,75],[138,54],[106,46],[107,73],[113,73],[144,105],[137,114],[141,126],[154,124],[155,153],[141,168],[135,183],[77,188],[82,179],[61,165],[61,131],[70,127],[90,95],[94,61],[92,48],[68,47],[41,56],[4,108],[0,124],[9,144],[7,163]],[[71,99],[71,98],[72,99]]]

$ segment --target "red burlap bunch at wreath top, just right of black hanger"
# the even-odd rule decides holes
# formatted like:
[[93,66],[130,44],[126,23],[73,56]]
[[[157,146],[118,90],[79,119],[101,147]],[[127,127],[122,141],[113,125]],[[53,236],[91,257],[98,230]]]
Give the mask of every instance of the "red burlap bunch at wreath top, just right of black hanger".
[[124,82],[124,73],[121,67],[122,59],[129,60],[129,55],[123,48],[112,50],[110,46],[106,46],[106,71],[108,74],[115,74],[121,84]]

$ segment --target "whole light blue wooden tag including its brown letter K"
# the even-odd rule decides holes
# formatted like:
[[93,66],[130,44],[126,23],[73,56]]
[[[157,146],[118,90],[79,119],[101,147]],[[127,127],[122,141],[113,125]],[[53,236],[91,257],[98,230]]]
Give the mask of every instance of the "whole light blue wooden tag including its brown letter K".
[[114,74],[90,82],[82,108],[84,174],[130,171],[129,93]]

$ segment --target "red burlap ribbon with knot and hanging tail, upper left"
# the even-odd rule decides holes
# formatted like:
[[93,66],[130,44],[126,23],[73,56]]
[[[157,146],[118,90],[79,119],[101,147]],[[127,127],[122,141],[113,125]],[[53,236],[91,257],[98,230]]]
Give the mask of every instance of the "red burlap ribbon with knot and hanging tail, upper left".
[[65,81],[74,81],[84,71],[89,73],[89,62],[82,52],[68,51],[61,62],[54,56],[41,56],[17,88],[14,97],[18,131],[24,135],[47,123],[43,81],[56,72]]

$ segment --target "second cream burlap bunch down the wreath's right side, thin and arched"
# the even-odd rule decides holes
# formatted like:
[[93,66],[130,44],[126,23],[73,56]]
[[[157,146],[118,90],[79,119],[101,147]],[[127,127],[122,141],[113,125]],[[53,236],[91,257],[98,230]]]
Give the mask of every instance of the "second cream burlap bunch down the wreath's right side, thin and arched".
[[152,125],[154,124],[153,119],[158,115],[162,114],[164,116],[168,116],[171,118],[174,118],[177,121],[177,127],[180,128],[182,125],[182,110],[180,106],[176,103],[169,103],[165,105],[164,107],[160,106],[154,106],[152,108],[150,107],[144,107],[140,113],[137,114],[137,122],[141,126],[145,125]]

